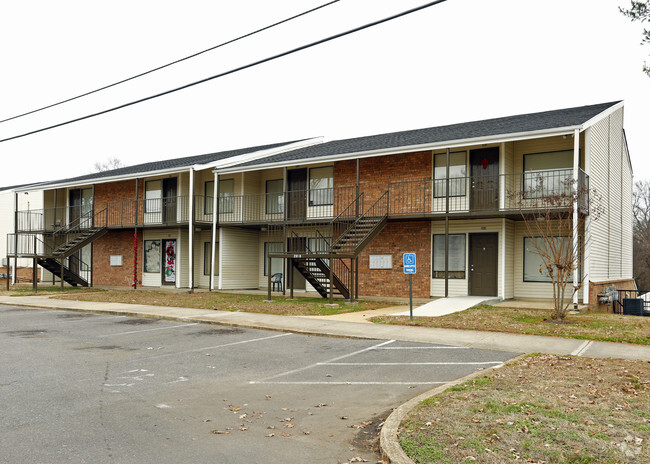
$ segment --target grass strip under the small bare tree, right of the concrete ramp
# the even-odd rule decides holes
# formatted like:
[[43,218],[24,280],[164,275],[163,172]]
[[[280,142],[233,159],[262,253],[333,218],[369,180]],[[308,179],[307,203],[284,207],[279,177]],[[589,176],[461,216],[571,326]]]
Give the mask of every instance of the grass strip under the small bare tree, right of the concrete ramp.
[[408,316],[380,316],[371,322],[650,345],[650,317],[596,312],[569,315],[557,322],[550,320],[549,310],[481,305],[442,317],[414,317],[411,321]]

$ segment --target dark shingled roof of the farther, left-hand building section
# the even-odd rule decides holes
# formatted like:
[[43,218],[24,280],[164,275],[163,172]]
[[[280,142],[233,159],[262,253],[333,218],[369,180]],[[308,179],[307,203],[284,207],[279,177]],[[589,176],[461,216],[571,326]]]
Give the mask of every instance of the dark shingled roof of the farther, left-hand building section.
[[68,179],[60,179],[55,181],[43,182],[42,184],[39,185],[39,187],[41,186],[46,187],[48,185],[66,184],[66,183],[73,183],[73,182],[77,183],[85,180],[94,181],[106,177],[128,176],[128,175],[140,174],[140,173],[144,174],[147,172],[155,172],[155,171],[161,171],[166,169],[190,167],[197,164],[198,165],[208,164],[214,161],[220,161],[227,158],[232,158],[234,156],[245,155],[247,153],[254,153],[262,150],[270,150],[273,148],[282,147],[284,145],[290,145],[292,143],[296,143],[299,141],[300,140],[294,140],[291,142],[273,143],[270,145],[260,145],[257,147],[249,147],[249,148],[238,148],[236,150],[221,151],[218,153],[208,153],[205,155],[187,156],[184,158],[174,158],[169,160],[153,161],[150,163],[136,164],[134,166],[127,166],[124,168],[111,169],[102,172],[94,172],[92,174],[86,174],[78,177],[70,177]]

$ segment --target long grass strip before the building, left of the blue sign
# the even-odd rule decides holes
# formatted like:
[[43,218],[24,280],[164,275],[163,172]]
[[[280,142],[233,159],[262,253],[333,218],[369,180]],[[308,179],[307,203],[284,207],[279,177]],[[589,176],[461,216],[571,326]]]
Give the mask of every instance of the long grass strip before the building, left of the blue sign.
[[[271,303],[266,302],[266,295],[248,295],[220,292],[195,292],[175,293],[165,291],[149,290],[100,290],[84,289],[69,290],[62,294],[56,287],[39,289],[38,294],[47,294],[48,290],[55,295],[55,298],[76,300],[76,301],[105,301],[113,303],[143,304],[154,306],[177,306],[182,308],[218,309],[223,311],[246,311],[255,313],[281,314],[286,316],[311,316],[330,315],[338,313],[349,313],[354,311],[365,311],[391,306],[385,301],[359,301],[348,304],[341,300],[334,300],[339,303],[338,308],[327,308],[329,300],[326,298],[282,298],[273,296]],[[29,291],[21,291],[20,295],[33,295]]]

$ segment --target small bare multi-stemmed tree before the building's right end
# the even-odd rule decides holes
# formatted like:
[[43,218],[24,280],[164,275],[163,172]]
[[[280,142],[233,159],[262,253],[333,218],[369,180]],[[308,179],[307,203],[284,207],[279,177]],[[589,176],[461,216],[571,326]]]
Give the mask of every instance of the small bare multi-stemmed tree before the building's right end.
[[[595,191],[578,185],[573,179],[553,174],[525,173],[524,188],[510,192],[508,197],[519,210],[531,251],[539,255],[539,273],[550,279],[553,286],[551,318],[566,317],[573,296],[582,288],[586,275],[573,281],[574,271],[582,271],[581,261],[587,246],[585,236],[587,217],[597,220],[601,214]],[[573,212],[577,208],[578,220]],[[578,240],[574,242],[573,234]],[[580,272],[579,272],[580,274]],[[569,292],[567,286],[571,283]],[[570,295],[567,295],[570,293]]]

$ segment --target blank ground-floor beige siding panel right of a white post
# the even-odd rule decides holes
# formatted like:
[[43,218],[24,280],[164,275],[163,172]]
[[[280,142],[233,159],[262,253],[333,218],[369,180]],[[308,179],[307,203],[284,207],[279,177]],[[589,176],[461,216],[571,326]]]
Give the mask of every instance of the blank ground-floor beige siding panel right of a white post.
[[224,227],[220,230],[221,288],[259,286],[259,232]]

